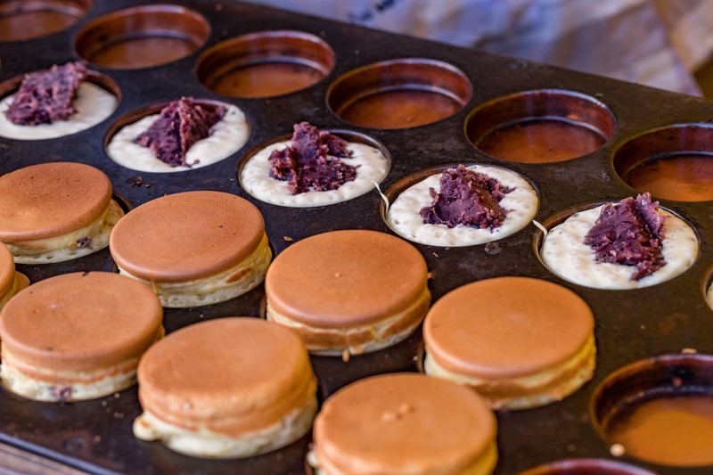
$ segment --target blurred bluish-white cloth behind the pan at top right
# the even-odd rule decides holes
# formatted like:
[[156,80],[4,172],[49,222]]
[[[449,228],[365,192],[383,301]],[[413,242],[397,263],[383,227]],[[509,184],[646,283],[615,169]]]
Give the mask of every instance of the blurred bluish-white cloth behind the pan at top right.
[[452,45],[701,95],[711,0],[252,0]]

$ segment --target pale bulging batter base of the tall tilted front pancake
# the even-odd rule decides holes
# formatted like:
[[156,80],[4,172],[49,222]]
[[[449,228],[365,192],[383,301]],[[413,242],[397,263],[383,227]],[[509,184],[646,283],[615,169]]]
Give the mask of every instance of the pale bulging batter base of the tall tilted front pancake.
[[134,435],[142,440],[160,440],[179,454],[207,458],[241,458],[265,454],[301,438],[312,427],[317,412],[317,399],[311,397],[304,407],[294,409],[262,430],[230,437],[214,430],[187,430],[162,421],[150,411],[134,421]]

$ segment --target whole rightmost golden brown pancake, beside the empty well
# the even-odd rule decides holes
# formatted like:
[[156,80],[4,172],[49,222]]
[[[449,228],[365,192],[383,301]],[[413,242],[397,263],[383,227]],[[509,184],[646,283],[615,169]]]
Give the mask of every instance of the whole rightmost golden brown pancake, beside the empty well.
[[494,408],[569,395],[594,373],[594,316],[560,285],[498,277],[463,285],[423,323],[426,373],[478,390]]

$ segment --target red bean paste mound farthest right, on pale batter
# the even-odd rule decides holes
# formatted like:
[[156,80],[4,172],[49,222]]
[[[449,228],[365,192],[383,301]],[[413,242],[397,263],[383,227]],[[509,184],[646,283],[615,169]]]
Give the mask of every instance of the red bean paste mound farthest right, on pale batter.
[[666,265],[661,252],[665,220],[651,194],[625,198],[604,205],[585,244],[594,250],[597,262],[635,266],[631,280],[638,281]]

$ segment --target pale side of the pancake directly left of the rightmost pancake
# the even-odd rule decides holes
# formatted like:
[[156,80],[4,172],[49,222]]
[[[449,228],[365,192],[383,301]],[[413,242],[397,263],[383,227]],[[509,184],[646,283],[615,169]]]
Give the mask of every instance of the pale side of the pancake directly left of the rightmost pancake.
[[297,332],[313,355],[342,356],[345,351],[349,355],[361,355],[406,340],[421,324],[429,304],[430,291],[428,287],[424,287],[418,299],[401,312],[362,326],[324,328],[300,323],[287,315],[280,314],[267,299],[266,318]]

